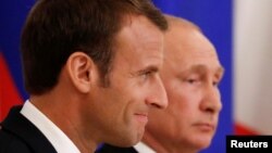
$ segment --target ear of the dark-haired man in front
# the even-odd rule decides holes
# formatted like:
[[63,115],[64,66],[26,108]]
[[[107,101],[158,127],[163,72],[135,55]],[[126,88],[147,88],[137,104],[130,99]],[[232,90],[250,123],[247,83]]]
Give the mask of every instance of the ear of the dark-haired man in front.
[[83,93],[87,93],[91,87],[91,74],[95,68],[92,60],[86,53],[74,52],[67,59],[66,68],[75,88]]

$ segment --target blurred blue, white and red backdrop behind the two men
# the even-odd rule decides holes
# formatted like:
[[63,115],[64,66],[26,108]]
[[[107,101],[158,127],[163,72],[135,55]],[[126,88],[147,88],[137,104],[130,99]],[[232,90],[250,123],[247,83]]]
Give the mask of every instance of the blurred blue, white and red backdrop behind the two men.
[[[0,1],[0,122],[27,98],[20,35],[35,0]],[[201,153],[225,153],[226,135],[272,135],[272,1],[153,0],[166,14],[198,25],[225,68],[223,110],[212,144]]]

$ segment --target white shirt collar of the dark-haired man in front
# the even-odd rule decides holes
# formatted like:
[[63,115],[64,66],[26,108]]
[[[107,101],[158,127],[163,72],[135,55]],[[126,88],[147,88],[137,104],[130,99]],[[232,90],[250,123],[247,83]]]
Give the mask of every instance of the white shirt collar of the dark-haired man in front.
[[58,153],[81,153],[72,140],[28,100],[21,114],[46,136]]

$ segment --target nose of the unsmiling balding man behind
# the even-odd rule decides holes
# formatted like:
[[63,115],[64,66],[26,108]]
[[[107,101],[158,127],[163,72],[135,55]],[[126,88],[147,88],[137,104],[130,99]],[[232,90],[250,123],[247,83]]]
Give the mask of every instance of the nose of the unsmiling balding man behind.
[[219,113],[222,110],[221,94],[218,87],[209,86],[205,89],[201,110],[209,113]]

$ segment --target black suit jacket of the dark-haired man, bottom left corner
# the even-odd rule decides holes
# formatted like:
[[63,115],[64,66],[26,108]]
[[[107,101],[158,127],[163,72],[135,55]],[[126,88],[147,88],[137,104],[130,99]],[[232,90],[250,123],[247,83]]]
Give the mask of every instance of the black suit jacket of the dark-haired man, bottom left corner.
[[0,153],[57,153],[41,131],[25,118],[22,106],[11,109],[0,127]]

